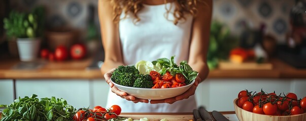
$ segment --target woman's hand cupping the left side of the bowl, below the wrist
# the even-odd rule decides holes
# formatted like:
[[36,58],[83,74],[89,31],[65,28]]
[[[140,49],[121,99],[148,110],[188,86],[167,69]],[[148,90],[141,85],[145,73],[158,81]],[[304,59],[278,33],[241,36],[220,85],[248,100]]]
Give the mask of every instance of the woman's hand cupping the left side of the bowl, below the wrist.
[[132,95],[128,95],[126,92],[120,91],[117,87],[115,87],[114,84],[111,82],[112,73],[114,71],[115,71],[115,69],[112,69],[111,71],[107,72],[104,75],[106,83],[108,83],[110,85],[110,87],[112,88],[112,92],[114,92],[115,94],[117,94],[121,98],[125,98],[126,100],[129,100],[129,101],[133,101],[134,103],[138,103],[138,102],[149,103],[149,100],[147,100],[147,99],[136,98]]

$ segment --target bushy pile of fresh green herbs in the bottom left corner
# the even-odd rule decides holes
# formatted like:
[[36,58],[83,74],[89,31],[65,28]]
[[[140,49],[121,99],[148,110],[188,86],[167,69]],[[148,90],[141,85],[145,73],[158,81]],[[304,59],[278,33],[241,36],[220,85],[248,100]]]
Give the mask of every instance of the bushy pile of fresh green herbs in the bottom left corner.
[[5,120],[72,120],[76,109],[62,98],[37,98],[25,96],[14,100],[2,112],[1,121]]

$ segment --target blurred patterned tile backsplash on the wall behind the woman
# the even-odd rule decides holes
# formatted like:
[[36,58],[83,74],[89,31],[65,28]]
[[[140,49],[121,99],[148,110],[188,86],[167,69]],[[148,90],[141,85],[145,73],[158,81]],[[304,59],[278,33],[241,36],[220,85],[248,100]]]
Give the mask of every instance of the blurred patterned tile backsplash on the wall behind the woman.
[[[289,14],[294,6],[293,0],[214,0],[213,19],[225,23],[232,34],[241,33],[242,22],[254,29],[261,23],[266,25],[265,33],[275,36],[279,43],[285,42],[289,31]],[[97,9],[97,0],[12,0],[11,8],[27,11],[43,5],[47,9],[49,27],[72,26],[85,31],[88,6]],[[95,11],[95,23],[98,18]]]

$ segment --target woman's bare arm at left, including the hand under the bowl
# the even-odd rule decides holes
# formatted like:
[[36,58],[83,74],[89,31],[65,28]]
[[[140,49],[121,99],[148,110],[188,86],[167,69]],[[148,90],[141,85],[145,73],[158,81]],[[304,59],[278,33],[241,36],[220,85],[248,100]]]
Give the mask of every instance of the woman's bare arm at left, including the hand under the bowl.
[[146,102],[149,100],[138,99],[134,96],[127,95],[127,93],[118,90],[110,81],[112,72],[118,66],[124,65],[122,59],[122,50],[119,39],[118,23],[113,22],[113,8],[110,1],[98,1],[98,16],[102,33],[102,43],[105,51],[104,64],[101,67],[101,73],[104,75],[105,81],[112,88],[112,92],[126,100],[137,102]]

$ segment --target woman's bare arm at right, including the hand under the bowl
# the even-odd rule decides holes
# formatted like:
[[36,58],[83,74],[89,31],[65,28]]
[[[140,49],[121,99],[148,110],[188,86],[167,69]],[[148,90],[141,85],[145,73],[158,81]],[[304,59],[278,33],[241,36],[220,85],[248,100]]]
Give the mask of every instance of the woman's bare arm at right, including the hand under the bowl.
[[207,78],[209,73],[207,66],[207,51],[209,47],[212,10],[212,0],[198,3],[198,13],[193,20],[188,65],[190,65],[194,71],[199,73],[198,77],[195,79],[195,83],[189,90],[179,96],[163,100],[151,100],[150,103],[172,104],[178,100],[187,99],[189,96],[194,95],[198,84]]

